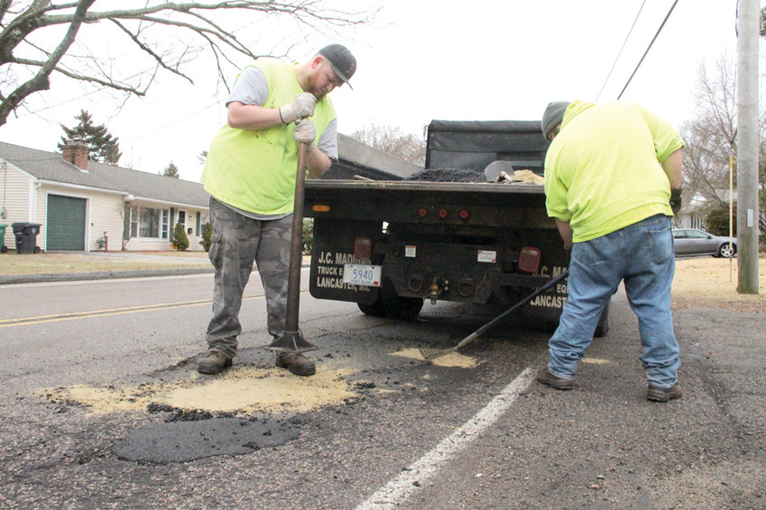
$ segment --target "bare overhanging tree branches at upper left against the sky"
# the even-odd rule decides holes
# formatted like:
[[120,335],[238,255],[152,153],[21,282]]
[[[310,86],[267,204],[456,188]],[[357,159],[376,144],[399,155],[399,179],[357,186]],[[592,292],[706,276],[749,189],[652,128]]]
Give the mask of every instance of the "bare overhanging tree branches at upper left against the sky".
[[[267,23],[272,23],[276,15],[321,32],[323,28],[365,23],[372,15],[330,9],[323,6],[323,0],[112,0],[108,3],[112,10],[108,11],[94,9],[95,3],[0,0],[0,125],[27,97],[48,90],[51,75],[112,88],[127,96],[144,96],[161,71],[191,81],[186,64],[207,50],[215,57],[219,79],[228,87],[226,64],[234,65],[234,60],[243,56],[256,59],[263,55],[254,53],[226,25],[241,25],[245,20],[263,22],[266,15],[271,16]],[[136,4],[143,7],[134,7]],[[96,27],[108,29],[109,40],[123,38],[133,48],[132,56],[148,59],[148,65],[125,68],[129,59],[109,59],[97,55],[93,47],[73,54],[78,35]],[[124,77],[116,77],[118,74]]]

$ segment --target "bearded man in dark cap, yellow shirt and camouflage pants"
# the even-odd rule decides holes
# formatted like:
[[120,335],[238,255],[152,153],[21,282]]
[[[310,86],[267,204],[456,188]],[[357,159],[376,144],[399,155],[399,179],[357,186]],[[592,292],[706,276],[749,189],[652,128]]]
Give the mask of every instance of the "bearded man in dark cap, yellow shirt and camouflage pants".
[[[351,52],[330,44],[299,64],[257,59],[236,78],[226,98],[226,125],[213,138],[202,173],[212,196],[209,257],[216,273],[200,373],[217,374],[232,365],[254,262],[266,294],[269,333],[275,339],[284,334],[297,144],[307,144],[306,167],[315,177],[337,160],[337,115],[328,94],[355,70]],[[280,351],[276,365],[300,376],[316,372],[298,351]]]

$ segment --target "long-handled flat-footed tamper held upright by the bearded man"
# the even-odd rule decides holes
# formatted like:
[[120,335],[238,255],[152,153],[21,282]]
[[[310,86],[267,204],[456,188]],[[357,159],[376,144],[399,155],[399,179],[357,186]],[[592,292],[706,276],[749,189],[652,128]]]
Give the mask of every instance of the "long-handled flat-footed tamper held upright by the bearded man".
[[287,317],[284,334],[266,346],[272,351],[314,351],[318,347],[307,342],[298,330],[298,309],[300,305],[300,266],[303,261],[303,189],[306,179],[306,144],[298,144],[298,176],[295,179],[295,205],[292,212],[292,234],[290,239],[290,272],[287,283]]

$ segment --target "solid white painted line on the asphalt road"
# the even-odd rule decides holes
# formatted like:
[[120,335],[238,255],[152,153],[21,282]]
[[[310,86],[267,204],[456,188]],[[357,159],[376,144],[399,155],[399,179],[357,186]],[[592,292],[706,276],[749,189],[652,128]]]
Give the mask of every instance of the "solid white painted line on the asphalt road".
[[382,510],[401,505],[418,489],[415,482],[420,485],[436,475],[443,464],[491,427],[508,411],[516,398],[530,387],[533,379],[532,370],[524,369],[519,377],[513,379],[500,395],[495,396],[473,418],[454,433],[448,435],[444,441],[438,443],[436,448],[420,457],[420,460],[403,470],[401,475],[393,478],[388,484],[378,489],[374,495],[356,506],[356,510]]

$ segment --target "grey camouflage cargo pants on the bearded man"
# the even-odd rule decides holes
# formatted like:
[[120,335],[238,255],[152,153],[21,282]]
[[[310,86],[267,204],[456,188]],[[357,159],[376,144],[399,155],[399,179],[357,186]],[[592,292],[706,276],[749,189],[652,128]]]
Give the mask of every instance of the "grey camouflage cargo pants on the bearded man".
[[213,284],[213,318],[208,324],[208,348],[226,356],[236,354],[236,337],[242,332],[239,310],[253,262],[266,295],[269,332],[284,334],[287,284],[290,274],[292,216],[260,221],[238,214],[215,198],[210,200],[208,256],[216,269]]

